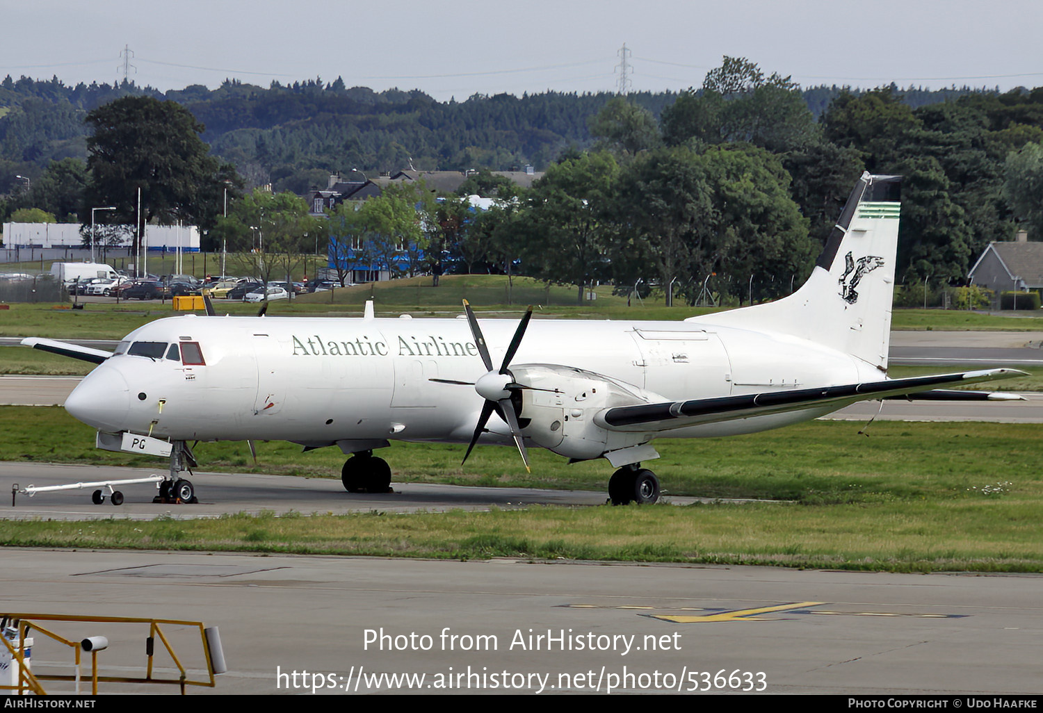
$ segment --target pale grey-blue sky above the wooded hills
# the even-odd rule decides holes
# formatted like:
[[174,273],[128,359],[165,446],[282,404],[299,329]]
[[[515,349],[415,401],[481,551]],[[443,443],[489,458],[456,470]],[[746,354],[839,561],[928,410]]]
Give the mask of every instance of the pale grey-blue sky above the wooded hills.
[[723,55],[803,87],[1043,85],[1039,0],[0,0],[0,77],[124,76],[161,91],[268,87],[474,94],[700,87]]

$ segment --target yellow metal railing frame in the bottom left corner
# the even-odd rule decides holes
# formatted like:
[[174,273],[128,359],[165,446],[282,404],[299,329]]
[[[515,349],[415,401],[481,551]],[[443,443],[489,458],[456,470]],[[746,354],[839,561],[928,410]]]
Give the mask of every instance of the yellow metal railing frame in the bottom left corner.
[[[79,665],[80,665],[80,654],[82,651],[79,641],[71,641],[59,634],[50,631],[49,629],[42,626],[39,622],[41,621],[76,621],[76,622],[94,622],[94,623],[147,623],[148,629],[148,639],[155,641],[156,637],[163,643],[164,648],[170,658],[173,660],[174,665],[180,672],[177,679],[156,679],[152,677],[152,659],[155,654],[154,645],[148,646],[148,653],[146,657],[148,659],[145,666],[145,678],[132,678],[132,677],[116,677],[116,675],[98,675],[98,651],[91,651],[91,693],[97,695],[98,693],[98,683],[138,683],[138,684],[166,684],[166,685],[176,685],[180,686],[181,695],[185,694],[186,686],[205,686],[208,688],[214,688],[217,682],[214,678],[214,662],[211,658],[210,644],[207,641],[207,634],[203,629],[203,623],[201,621],[181,621],[179,619],[150,619],[143,617],[130,617],[130,616],[73,616],[68,614],[26,614],[26,613],[16,613],[16,612],[0,612],[0,617],[11,622],[13,625],[18,628],[20,644],[15,646],[6,637],[0,636],[0,641],[3,645],[7,647],[7,650],[11,653],[15,660],[19,665],[19,680],[17,686],[0,686],[0,691],[17,691],[19,694],[23,693],[35,693],[38,695],[46,695],[46,691],[41,685],[41,681],[69,681],[78,684],[79,681]],[[178,625],[178,626],[195,626],[199,630],[199,639],[202,642],[203,654],[207,657],[207,672],[209,679],[205,681],[195,681],[189,679],[188,671],[185,670],[185,666],[181,665],[180,659],[174,653],[173,646],[170,644],[169,639],[163,633],[160,628],[161,624],[167,625]],[[75,666],[77,667],[77,674],[75,675],[58,675],[58,674],[42,674],[37,675],[32,671],[25,667],[25,640],[29,636],[29,633],[42,634],[60,644],[69,646],[74,651]]]

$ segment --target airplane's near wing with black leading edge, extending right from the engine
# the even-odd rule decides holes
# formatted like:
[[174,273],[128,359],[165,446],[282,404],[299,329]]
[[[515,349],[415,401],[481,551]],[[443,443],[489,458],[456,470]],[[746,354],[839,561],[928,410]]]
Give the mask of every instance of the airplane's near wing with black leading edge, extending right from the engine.
[[[791,389],[743,396],[697,398],[689,401],[642,403],[615,407],[598,415],[598,421],[610,431],[670,431],[702,423],[730,421],[752,416],[767,416],[787,411],[803,411],[828,407],[842,409],[856,401],[880,398],[916,398],[918,393],[933,394],[929,399],[951,399],[954,392],[935,387],[956,384],[977,384],[1024,375],[1017,369],[988,369],[956,374],[913,376],[865,384],[843,384],[816,389]],[[985,392],[968,392],[968,400],[978,400]],[[1010,394],[1002,397],[1011,398]]]

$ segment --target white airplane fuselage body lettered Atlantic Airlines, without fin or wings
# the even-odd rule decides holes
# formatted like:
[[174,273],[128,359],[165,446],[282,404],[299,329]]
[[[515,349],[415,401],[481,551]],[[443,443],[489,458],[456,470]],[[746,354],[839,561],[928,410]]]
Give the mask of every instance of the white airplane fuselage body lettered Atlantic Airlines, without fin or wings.
[[[482,320],[494,362],[502,359],[515,325],[513,320]],[[171,352],[171,345],[178,348]],[[805,340],[690,322],[537,319],[512,368],[523,364],[574,366],[664,399],[880,377],[869,365]],[[485,371],[463,319],[189,315],[161,319],[128,335],[116,355],[77,387],[66,408],[100,431],[181,441],[466,443],[482,397],[471,386],[431,379],[472,384]],[[571,413],[576,413],[582,404],[565,407],[575,407]],[[830,410],[662,435],[749,433]],[[482,442],[510,442],[499,418],[489,422],[489,431]]]

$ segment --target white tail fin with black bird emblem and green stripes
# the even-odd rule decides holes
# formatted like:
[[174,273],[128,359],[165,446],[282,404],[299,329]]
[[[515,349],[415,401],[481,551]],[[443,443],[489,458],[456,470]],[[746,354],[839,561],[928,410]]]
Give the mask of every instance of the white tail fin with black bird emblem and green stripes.
[[863,173],[811,276],[797,292],[692,321],[793,335],[886,371],[900,185],[900,176]]

